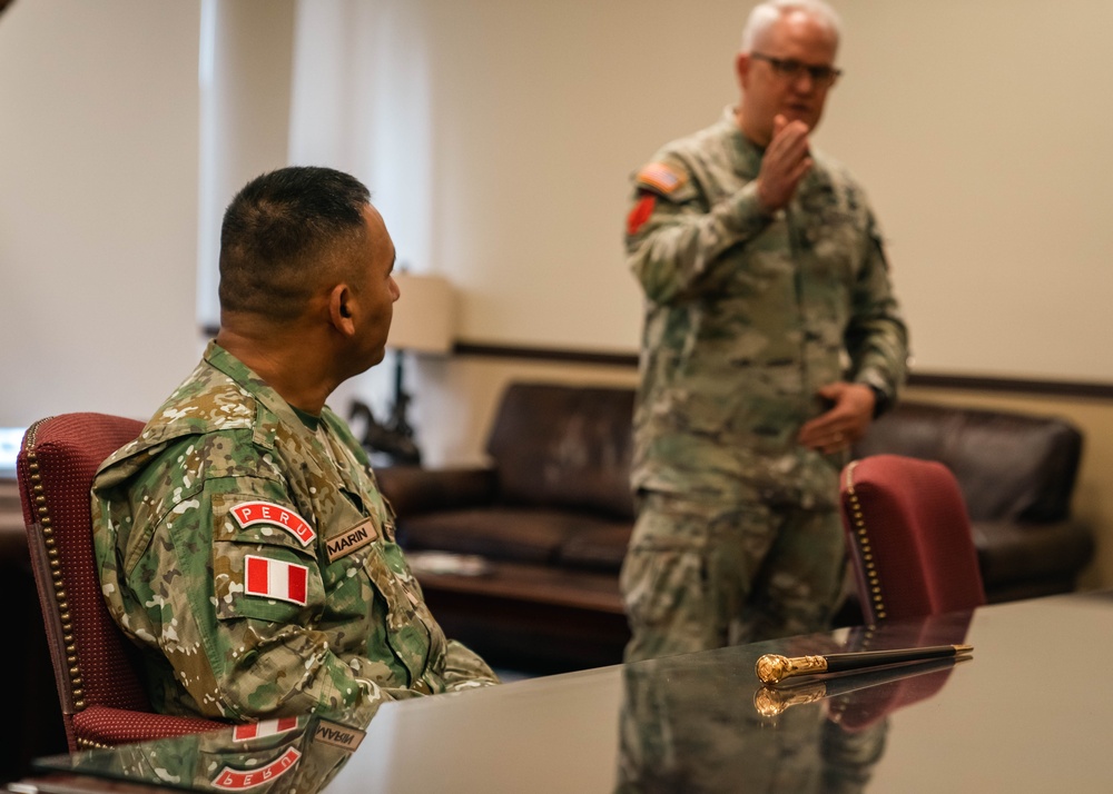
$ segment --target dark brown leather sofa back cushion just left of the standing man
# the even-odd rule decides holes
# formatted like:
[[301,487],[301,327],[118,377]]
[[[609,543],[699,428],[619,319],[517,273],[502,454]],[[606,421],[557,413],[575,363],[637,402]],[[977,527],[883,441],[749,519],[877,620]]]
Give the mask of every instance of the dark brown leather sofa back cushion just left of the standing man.
[[633,389],[511,384],[487,453],[511,505],[633,517]]

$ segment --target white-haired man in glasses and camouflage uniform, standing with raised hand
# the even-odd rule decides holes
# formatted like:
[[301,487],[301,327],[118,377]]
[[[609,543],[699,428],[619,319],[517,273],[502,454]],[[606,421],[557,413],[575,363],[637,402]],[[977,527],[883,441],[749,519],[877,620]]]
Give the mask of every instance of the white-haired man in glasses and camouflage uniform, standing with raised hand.
[[737,109],[634,178],[646,294],[627,658],[817,631],[844,568],[837,479],[897,396],[907,334],[866,198],[811,149],[839,22],[754,9]]

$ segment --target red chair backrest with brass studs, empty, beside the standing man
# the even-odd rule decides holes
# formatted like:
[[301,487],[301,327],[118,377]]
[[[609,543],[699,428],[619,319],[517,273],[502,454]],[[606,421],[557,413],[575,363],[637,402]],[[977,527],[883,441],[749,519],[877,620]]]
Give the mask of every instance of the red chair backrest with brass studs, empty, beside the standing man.
[[969,517],[943,464],[875,455],[848,464],[839,486],[864,617],[923,617],[985,603]]

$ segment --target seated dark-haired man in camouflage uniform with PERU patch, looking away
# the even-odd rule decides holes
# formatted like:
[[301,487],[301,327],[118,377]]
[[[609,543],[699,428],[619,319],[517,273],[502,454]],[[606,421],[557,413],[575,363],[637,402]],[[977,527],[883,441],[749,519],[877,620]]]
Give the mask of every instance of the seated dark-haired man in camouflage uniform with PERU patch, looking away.
[[249,182],[220,238],[220,331],[100,468],[93,537],[154,706],[362,727],[388,699],[496,683],[430,614],[359,444],[325,406],[382,360],[398,288],[367,189]]

